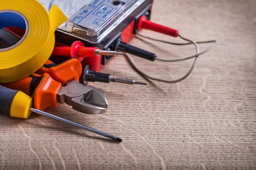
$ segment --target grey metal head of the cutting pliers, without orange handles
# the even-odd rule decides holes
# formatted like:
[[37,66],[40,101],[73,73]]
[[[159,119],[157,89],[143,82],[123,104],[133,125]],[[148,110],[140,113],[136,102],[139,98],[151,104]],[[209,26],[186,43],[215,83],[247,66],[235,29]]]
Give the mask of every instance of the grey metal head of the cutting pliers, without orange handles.
[[71,80],[58,91],[58,102],[72,106],[76,111],[87,114],[102,114],[108,110],[108,101],[102,91],[90,85]]

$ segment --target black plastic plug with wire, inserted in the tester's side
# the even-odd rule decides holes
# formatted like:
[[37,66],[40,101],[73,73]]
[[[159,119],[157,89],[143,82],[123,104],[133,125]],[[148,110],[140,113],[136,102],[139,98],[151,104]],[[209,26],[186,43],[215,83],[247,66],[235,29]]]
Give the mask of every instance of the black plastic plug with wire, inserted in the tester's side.
[[144,59],[148,59],[150,61],[154,61],[154,59],[157,57],[156,54],[153,54],[153,53],[145,51],[143,49],[134,47],[134,46],[129,45],[129,44],[127,44],[125,42],[122,42],[122,41],[120,41],[117,44],[116,48],[120,51],[129,53],[129,54],[132,54],[134,56],[138,56],[138,57],[141,57],[141,58],[144,58]]

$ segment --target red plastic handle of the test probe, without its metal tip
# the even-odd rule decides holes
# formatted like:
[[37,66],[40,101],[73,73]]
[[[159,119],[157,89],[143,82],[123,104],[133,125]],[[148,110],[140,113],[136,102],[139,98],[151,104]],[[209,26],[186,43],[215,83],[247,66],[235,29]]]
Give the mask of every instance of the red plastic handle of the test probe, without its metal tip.
[[71,47],[59,47],[55,46],[52,55],[53,56],[70,56],[71,58],[79,59],[83,61],[84,57],[97,57],[95,51],[99,50],[97,47],[84,47],[81,41],[74,42]]

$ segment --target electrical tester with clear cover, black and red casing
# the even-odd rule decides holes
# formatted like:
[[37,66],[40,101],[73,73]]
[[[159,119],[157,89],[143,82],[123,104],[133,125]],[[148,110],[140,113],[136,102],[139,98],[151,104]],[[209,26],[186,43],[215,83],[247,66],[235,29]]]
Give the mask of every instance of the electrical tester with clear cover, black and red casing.
[[[126,48],[126,43],[138,32],[136,25],[141,16],[150,19],[153,0],[39,0],[49,11],[55,3],[69,17],[67,22],[57,28],[56,41],[72,45],[81,41],[85,46],[102,50],[116,51]],[[84,7],[83,7],[84,6]],[[124,42],[124,43],[123,43]],[[126,45],[126,46],[125,46]],[[131,48],[128,46],[127,48]],[[140,50],[135,48],[135,50]],[[147,53],[146,51],[139,51]],[[99,71],[111,60],[112,56],[103,55],[85,58],[83,67],[90,65]],[[51,57],[54,62],[68,58]]]

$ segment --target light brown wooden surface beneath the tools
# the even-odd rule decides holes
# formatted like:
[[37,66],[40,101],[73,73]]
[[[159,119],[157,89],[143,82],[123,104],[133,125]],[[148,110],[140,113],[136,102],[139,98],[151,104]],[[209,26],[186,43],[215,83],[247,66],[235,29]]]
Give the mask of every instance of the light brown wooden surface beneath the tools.
[[[255,0],[156,0],[153,21],[193,40],[218,39],[192,75],[178,84],[91,83],[108,98],[108,112],[98,116],[67,105],[47,109],[119,136],[122,143],[44,116],[0,115],[0,170],[256,169],[255,9]],[[192,45],[139,39],[131,44],[166,59],[195,53]],[[201,51],[209,45],[200,45]],[[134,60],[148,74],[166,79],[183,76],[193,62]],[[116,57],[102,72],[146,81],[125,57]]]

